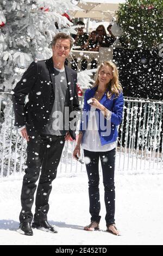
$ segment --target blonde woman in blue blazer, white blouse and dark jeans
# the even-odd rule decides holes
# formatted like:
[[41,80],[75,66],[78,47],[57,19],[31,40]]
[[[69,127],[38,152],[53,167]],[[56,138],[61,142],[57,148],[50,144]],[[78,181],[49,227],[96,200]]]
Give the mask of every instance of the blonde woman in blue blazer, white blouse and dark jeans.
[[80,144],[84,149],[87,175],[89,178],[89,199],[91,223],[85,230],[99,229],[101,209],[99,201],[99,157],[102,164],[105,191],[106,230],[119,235],[115,226],[115,147],[118,136],[117,126],[122,121],[123,95],[118,81],[116,65],[105,61],[99,66],[97,79],[84,96],[84,108],[80,131],[73,156],[80,157]]

